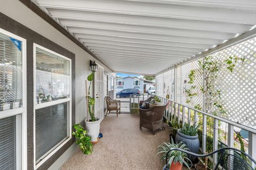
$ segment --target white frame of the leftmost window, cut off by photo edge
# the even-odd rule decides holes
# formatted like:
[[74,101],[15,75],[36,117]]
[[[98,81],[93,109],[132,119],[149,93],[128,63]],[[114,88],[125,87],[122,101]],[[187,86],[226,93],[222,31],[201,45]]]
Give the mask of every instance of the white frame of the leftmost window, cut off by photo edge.
[[[16,134],[16,165],[17,170],[27,169],[27,40],[0,28],[0,32],[6,36],[15,38],[22,42],[22,107],[0,111],[0,118],[15,116]],[[20,124],[21,123],[21,124]],[[21,158],[20,158],[21,157]],[[21,162],[20,162],[21,161]]]

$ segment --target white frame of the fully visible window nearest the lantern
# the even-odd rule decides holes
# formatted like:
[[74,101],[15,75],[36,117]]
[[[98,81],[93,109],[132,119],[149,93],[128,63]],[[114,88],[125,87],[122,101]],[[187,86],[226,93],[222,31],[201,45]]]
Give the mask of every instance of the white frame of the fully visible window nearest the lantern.
[[[33,44],[33,60],[34,60],[34,169],[37,169],[39,166],[41,166],[43,163],[46,162],[47,159],[49,159],[53,154],[55,154],[55,152],[57,152],[61,147],[63,147],[70,139],[71,139],[71,131],[72,131],[72,68],[71,68],[71,59],[68,57],[65,57],[61,54],[55,53],[50,49],[47,49],[43,46],[40,46],[38,44]],[[69,98],[65,98],[65,99],[59,99],[59,100],[53,100],[53,101],[47,101],[45,103],[40,103],[37,104],[36,102],[36,48],[40,48],[45,50],[46,52],[52,53],[54,55],[57,55],[61,58],[64,58],[65,60],[70,61],[70,95]],[[45,157],[38,163],[36,164],[36,110],[40,109],[40,108],[44,108],[44,107],[49,107],[49,106],[53,106],[53,105],[57,105],[57,104],[61,104],[61,103],[68,103],[68,121],[67,121],[67,129],[68,129],[68,134],[67,137],[64,140],[62,140],[61,142],[59,142],[54,149],[49,150],[49,152],[47,152],[45,155]]]

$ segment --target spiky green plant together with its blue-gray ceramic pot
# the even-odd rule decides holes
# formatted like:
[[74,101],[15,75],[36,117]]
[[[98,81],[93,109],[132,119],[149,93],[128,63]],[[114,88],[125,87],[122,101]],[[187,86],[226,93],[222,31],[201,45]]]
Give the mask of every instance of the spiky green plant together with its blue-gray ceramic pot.
[[[188,149],[195,154],[198,153],[200,147],[197,134],[198,126],[199,124],[197,123],[194,123],[193,125],[190,125],[190,123],[185,123],[182,129],[177,131],[175,136],[176,142],[183,141],[187,145]],[[189,158],[192,160],[192,162],[194,162],[196,159],[194,156],[189,156]]]

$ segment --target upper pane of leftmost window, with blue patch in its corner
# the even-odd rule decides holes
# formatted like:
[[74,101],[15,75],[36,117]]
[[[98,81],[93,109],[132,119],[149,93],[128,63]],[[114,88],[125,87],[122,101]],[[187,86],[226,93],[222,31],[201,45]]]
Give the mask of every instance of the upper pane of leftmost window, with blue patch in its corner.
[[22,106],[22,42],[0,33],[0,111]]

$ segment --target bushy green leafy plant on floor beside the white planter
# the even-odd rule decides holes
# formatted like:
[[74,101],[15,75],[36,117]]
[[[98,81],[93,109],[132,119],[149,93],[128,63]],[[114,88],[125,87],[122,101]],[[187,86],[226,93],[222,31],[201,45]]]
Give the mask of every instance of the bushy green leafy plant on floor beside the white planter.
[[75,124],[74,129],[75,132],[72,132],[72,134],[76,137],[76,144],[79,146],[81,151],[84,154],[91,154],[92,153],[92,143],[91,143],[91,137],[87,135],[87,131],[84,130],[84,128],[79,125]]

